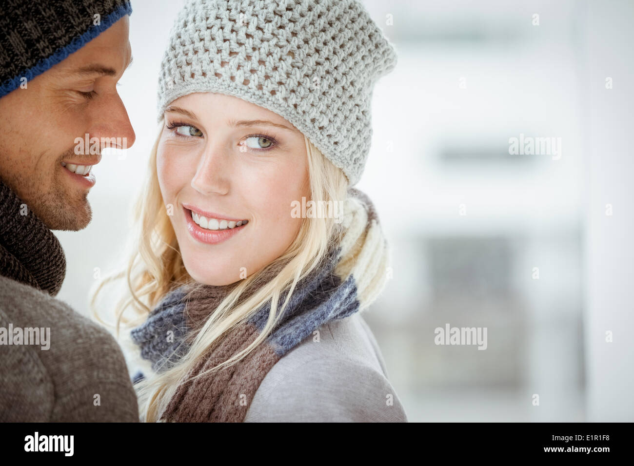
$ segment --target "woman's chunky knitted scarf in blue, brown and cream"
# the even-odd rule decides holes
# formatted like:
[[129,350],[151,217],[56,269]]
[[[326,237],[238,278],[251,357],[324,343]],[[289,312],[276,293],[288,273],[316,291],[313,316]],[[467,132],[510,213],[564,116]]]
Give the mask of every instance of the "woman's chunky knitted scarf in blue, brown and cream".
[[[280,323],[252,353],[219,372],[188,380],[176,389],[160,415],[167,422],[243,422],[266,373],[288,351],[322,325],[346,318],[370,305],[384,288],[389,249],[370,199],[351,188],[342,225],[344,235],[323,266],[297,283]],[[191,294],[179,287],[165,295],[148,319],[131,332],[141,357],[161,372],[178,363],[190,347],[193,331],[213,313],[230,287],[204,287]],[[280,297],[280,306],[287,295]],[[270,301],[198,361],[188,375],[197,375],[242,351],[261,333]],[[173,342],[165,335],[172,331]],[[138,372],[134,381],[145,375]]]

